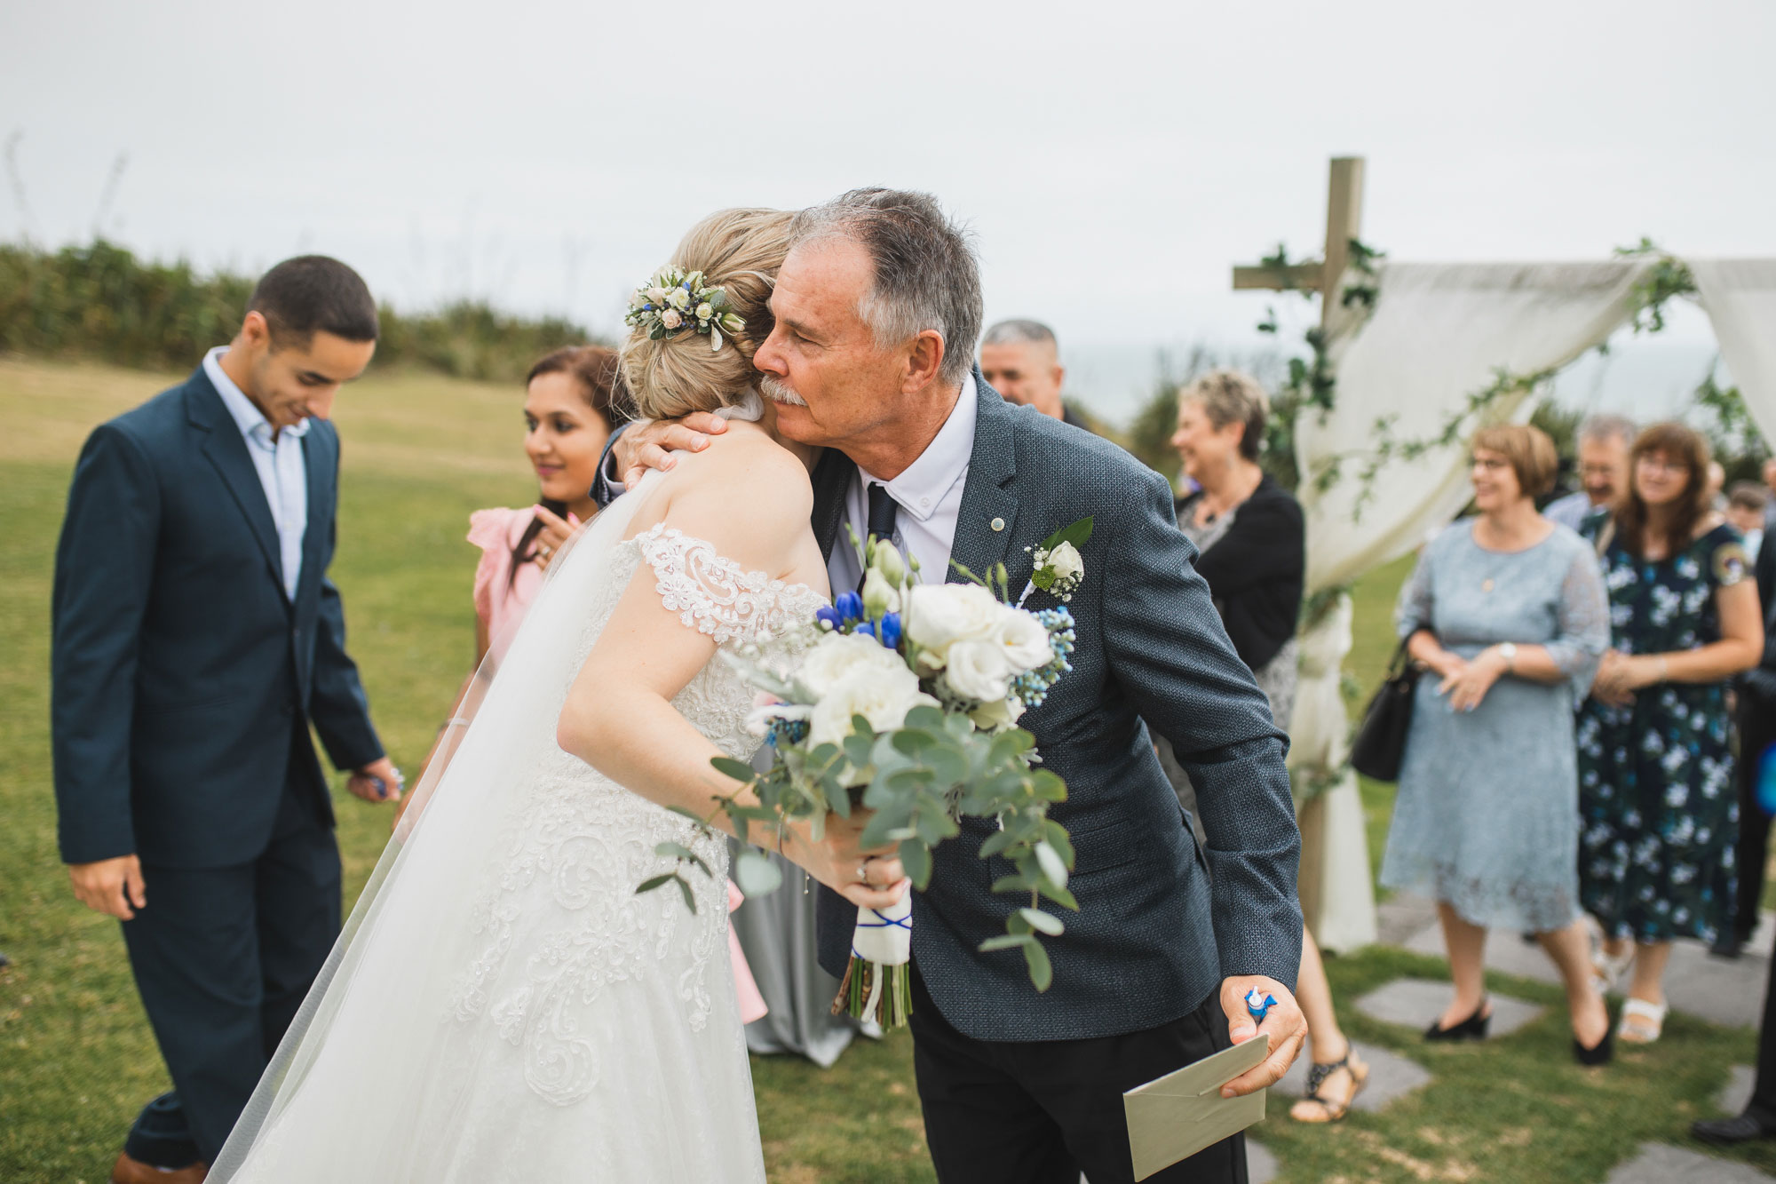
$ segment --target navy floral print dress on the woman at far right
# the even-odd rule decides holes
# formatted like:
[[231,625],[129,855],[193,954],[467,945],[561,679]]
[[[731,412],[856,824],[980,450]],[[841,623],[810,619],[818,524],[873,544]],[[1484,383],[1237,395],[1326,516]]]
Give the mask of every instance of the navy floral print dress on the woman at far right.
[[[1586,521],[1593,539],[1607,514]],[[1748,578],[1732,526],[1648,564],[1602,555],[1611,645],[1668,654],[1719,640],[1714,594]],[[1714,940],[1733,910],[1739,798],[1724,683],[1659,683],[1579,708],[1579,892],[1609,937]]]

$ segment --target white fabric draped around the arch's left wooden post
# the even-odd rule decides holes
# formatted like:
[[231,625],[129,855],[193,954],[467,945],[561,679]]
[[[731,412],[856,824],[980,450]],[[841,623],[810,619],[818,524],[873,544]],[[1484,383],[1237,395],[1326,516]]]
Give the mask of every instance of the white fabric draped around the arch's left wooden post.
[[[1323,418],[1307,412],[1295,430],[1307,592],[1348,585],[1412,551],[1469,498],[1465,441],[1414,460],[1389,460],[1366,489],[1360,468],[1382,437],[1378,421],[1389,421],[1398,441],[1430,439],[1471,395],[1492,386],[1501,368],[1527,375],[1575,359],[1623,324],[1634,284],[1650,267],[1648,260],[1385,265],[1368,324],[1334,320],[1330,327],[1336,411]],[[1524,420],[1531,409],[1527,393],[1517,393],[1485,414],[1495,423]],[[1352,459],[1344,476],[1320,492],[1312,475],[1337,457]],[[1350,722],[1339,699],[1339,665],[1352,644],[1350,620],[1348,597],[1341,597],[1302,636],[1289,764],[1307,777],[1344,764]],[[1320,944],[1352,949],[1373,942],[1362,800],[1348,770],[1302,811],[1302,908]]]

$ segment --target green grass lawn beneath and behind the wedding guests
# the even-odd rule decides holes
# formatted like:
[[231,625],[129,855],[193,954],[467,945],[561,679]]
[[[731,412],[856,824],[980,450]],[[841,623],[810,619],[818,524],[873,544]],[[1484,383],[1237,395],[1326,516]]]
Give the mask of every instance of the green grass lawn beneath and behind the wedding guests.
[[[98,1184],[137,1108],[165,1070],[135,997],[117,924],[67,892],[55,853],[48,736],[48,597],[67,475],[94,423],[172,375],[0,357],[0,1182]],[[416,768],[471,660],[464,540],[469,510],[531,496],[519,453],[519,393],[433,377],[378,375],[339,400],[345,475],[334,576],[350,647],[377,724]],[[1373,686],[1389,656],[1387,612],[1405,565],[1359,585],[1352,665]],[[1373,855],[1391,786],[1364,784]],[[336,793],[348,898],[387,837],[387,812]],[[1501,937],[1515,940],[1515,937]],[[1334,958],[1350,999],[1399,974],[1444,965],[1371,949]],[[1726,1065],[1749,1061],[1748,1031],[1673,1017],[1657,1047],[1586,1072],[1566,1054],[1559,992],[1495,978],[1501,992],[1549,1004],[1518,1035],[1428,1047],[1415,1033],[1344,1008],[1350,1033],[1419,1060],[1435,1083],[1384,1115],[1332,1129],[1296,1127],[1273,1099],[1256,1132],[1309,1180],[1600,1180],[1645,1140],[1684,1141],[1712,1113]],[[796,1058],[753,1061],[771,1179],[897,1184],[931,1180],[904,1035],[852,1045],[835,1068]],[[1776,1168],[1776,1152],[1744,1159]]]

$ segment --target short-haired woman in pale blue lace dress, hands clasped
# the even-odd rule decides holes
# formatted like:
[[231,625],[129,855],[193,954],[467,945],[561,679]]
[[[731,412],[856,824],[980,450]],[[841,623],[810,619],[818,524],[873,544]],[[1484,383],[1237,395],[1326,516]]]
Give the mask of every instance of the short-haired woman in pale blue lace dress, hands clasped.
[[1483,1038],[1487,930],[1533,932],[1566,983],[1574,1054],[1609,1060],[1609,1012],[1579,916],[1572,711],[1609,644],[1591,548],[1536,512],[1554,444],[1531,427],[1474,437],[1479,514],[1424,549],[1399,636],[1424,667],[1382,884],[1437,900],[1455,997],[1426,1040]]

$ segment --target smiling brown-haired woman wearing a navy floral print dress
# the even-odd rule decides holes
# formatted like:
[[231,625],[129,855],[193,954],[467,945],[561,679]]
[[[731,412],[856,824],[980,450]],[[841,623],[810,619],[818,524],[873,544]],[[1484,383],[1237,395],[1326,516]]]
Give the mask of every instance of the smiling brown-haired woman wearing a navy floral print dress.
[[1620,1036],[1652,1044],[1671,939],[1732,923],[1726,679],[1756,665],[1764,626],[1739,533],[1709,505],[1703,439],[1659,423],[1629,464],[1627,496],[1586,521],[1613,649],[1579,709],[1579,894],[1604,926],[1604,978],[1634,964]]

